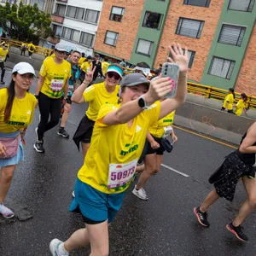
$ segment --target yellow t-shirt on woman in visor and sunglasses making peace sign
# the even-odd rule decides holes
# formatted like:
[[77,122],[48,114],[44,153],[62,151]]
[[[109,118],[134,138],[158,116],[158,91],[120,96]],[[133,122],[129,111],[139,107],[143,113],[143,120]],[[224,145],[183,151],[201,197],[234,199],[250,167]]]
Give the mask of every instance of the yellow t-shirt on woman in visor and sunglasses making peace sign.
[[89,108],[85,112],[87,117],[93,121],[96,120],[100,108],[103,104],[117,104],[119,97],[119,85],[115,87],[112,93],[109,93],[105,87],[105,82],[100,84],[92,84],[84,90],[84,100],[89,103]]

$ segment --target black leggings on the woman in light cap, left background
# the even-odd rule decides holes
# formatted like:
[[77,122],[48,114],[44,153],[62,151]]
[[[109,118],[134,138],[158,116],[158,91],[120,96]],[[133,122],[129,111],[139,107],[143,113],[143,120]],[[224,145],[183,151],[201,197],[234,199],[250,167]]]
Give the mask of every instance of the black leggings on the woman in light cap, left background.
[[38,141],[42,141],[44,132],[50,130],[59,123],[61,118],[61,98],[49,98],[49,96],[40,92],[38,95],[38,107],[41,114],[40,123],[38,124]]

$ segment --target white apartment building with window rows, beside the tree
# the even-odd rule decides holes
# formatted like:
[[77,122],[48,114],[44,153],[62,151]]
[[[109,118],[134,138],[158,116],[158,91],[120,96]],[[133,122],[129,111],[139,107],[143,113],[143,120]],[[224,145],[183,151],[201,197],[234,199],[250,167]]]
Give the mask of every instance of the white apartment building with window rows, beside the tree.
[[92,55],[102,1],[57,0],[51,16],[52,28],[68,49]]

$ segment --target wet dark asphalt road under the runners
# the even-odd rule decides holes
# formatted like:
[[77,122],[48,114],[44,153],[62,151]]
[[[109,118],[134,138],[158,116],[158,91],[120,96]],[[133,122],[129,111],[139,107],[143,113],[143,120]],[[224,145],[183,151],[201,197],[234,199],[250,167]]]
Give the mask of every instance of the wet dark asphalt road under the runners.
[[[86,104],[73,104],[67,123],[71,135],[86,108]],[[65,240],[84,227],[79,214],[68,212],[82,155],[71,138],[56,134],[57,127],[45,134],[46,152],[38,154],[32,148],[37,125],[38,110],[26,134],[26,160],[17,167],[6,200],[16,217],[0,217],[1,256],[50,255],[51,239]],[[148,201],[131,194],[132,184],[110,226],[110,255],[255,255],[255,212],[244,223],[247,243],[237,241],[225,229],[246,198],[241,183],[232,203],[221,199],[210,209],[209,229],[201,227],[193,213],[193,207],[212,189],[208,177],[233,149],[186,131],[176,129],[176,133],[178,142],[172,154],[165,155],[164,164],[189,177],[162,167],[144,187]],[[83,248],[71,255],[89,253],[88,248]]]

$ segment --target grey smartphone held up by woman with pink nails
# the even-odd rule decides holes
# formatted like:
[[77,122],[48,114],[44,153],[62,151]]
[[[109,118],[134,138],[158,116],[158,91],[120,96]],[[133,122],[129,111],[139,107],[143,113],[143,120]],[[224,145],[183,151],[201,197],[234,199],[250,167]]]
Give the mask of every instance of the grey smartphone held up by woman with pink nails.
[[173,81],[172,90],[166,95],[166,98],[174,98],[177,92],[177,80],[179,67],[175,63],[165,62],[162,67],[162,78],[170,78]]

